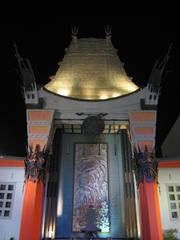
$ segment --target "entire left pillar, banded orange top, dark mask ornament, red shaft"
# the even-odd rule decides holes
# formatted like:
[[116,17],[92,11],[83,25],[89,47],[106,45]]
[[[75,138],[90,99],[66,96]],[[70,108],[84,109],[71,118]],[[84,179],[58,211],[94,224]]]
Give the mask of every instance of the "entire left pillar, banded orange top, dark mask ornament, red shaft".
[[29,147],[25,160],[25,192],[20,240],[41,239],[47,149],[53,135],[53,114],[53,110],[27,110]]

